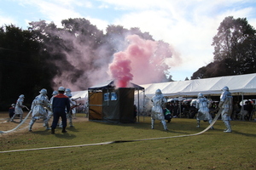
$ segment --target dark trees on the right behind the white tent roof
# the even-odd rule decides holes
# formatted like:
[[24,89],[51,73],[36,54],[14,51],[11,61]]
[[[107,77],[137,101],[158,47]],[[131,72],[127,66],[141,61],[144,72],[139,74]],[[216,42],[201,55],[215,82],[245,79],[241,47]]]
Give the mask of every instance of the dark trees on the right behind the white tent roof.
[[246,18],[226,17],[213,37],[213,61],[199,68],[191,79],[256,72],[256,31]]

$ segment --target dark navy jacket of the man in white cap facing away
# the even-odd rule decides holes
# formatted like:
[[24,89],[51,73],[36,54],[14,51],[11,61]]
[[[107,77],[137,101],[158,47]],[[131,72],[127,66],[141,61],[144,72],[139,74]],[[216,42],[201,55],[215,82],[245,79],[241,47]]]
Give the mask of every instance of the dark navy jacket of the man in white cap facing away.
[[67,113],[70,111],[70,103],[67,95],[64,95],[64,94],[55,95],[52,101],[52,111],[64,113],[66,112],[66,110],[67,110]]

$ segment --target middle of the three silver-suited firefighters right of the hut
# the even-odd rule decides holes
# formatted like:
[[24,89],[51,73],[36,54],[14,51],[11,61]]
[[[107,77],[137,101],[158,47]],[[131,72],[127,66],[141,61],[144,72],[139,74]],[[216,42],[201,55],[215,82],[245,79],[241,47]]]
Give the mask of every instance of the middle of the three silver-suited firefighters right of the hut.
[[[207,121],[209,124],[212,123],[212,116],[209,113],[209,108],[208,105],[210,102],[207,100],[207,98],[204,97],[203,94],[199,93],[197,95],[196,103],[195,103],[195,108],[198,109],[197,111],[197,116],[196,116],[196,121],[197,121],[197,126],[200,127],[200,122],[201,121]],[[213,129],[213,127],[211,127]]]

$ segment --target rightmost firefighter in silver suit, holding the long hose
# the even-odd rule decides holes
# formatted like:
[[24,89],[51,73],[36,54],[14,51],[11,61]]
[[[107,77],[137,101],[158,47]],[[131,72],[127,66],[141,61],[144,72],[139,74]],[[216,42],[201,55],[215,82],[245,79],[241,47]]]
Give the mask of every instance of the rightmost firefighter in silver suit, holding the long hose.
[[230,93],[230,89],[228,87],[224,87],[221,89],[223,92],[220,96],[220,101],[218,104],[219,111],[221,112],[221,118],[224,122],[224,125],[227,127],[224,129],[224,133],[231,133],[231,125],[230,125],[230,116],[233,111],[233,97]]

